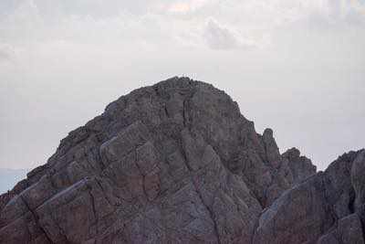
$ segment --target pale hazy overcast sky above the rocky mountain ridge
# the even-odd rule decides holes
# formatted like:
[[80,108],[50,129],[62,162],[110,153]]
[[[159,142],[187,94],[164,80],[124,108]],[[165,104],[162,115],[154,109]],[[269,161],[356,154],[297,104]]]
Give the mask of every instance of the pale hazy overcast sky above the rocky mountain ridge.
[[1,0],[0,167],[46,163],[110,101],[175,75],[323,169],[365,147],[365,2]]

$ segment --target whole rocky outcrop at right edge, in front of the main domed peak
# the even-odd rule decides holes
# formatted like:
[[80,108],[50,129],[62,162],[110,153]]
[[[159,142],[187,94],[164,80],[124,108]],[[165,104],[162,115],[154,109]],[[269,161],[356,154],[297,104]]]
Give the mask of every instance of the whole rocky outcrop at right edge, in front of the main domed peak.
[[[287,190],[259,217],[254,243],[363,243],[360,168],[364,150],[343,154]],[[352,181],[351,181],[352,179]]]

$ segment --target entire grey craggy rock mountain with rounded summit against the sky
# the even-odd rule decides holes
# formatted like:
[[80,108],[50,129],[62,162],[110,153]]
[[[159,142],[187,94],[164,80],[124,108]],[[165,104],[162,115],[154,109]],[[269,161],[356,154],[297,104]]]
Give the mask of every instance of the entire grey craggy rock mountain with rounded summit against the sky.
[[222,90],[133,90],[0,196],[0,243],[364,243],[365,150],[318,172]]

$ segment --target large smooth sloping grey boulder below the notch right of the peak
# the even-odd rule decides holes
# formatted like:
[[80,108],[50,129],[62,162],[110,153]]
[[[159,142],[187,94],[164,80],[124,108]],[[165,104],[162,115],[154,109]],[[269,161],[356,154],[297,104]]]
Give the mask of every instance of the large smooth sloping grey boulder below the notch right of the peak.
[[310,243],[335,219],[326,197],[323,174],[285,192],[267,207],[258,221],[254,243]]

